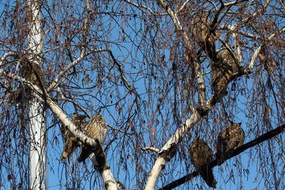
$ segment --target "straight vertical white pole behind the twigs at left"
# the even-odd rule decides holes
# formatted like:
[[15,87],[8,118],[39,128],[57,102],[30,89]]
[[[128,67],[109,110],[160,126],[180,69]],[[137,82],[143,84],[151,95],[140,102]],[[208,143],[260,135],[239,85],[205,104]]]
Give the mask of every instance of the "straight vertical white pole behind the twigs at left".
[[[28,49],[30,61],[42,65],[43,31],[41,28],[41,4],[28,0],[29,22]],[[46,189],[46,142],[43,104],[32,98],[28,108],[30,118],[30,188]]]

